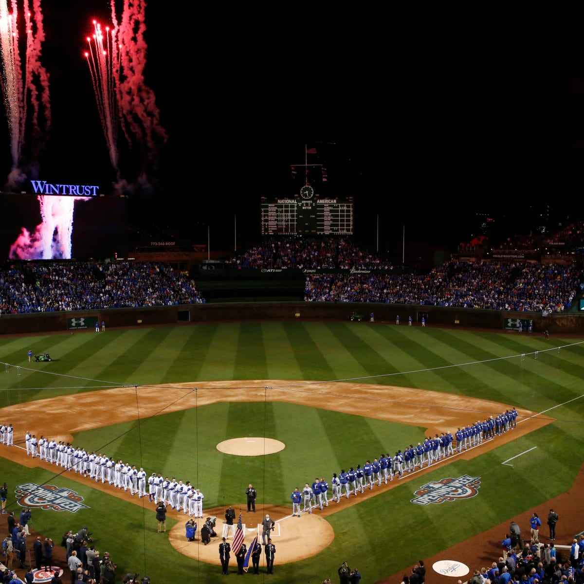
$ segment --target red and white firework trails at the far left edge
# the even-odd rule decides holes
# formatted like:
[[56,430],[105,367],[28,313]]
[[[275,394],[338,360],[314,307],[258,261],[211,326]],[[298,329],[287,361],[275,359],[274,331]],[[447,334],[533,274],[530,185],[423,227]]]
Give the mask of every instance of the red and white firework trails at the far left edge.
[[[23,0],[22,12],[26,32],[26,44],[20,42],[18,0],[0,0],[0,61],[2,74],[0,88],[8,118],[11,141],[12,170],[7,188],[16,188],[26,179],[21,168],[27,122],[30,126],[31,153],[36,157],[46,144],[51,126],[51,106],[48,91],[48,74],[40,64],[41,47],[44,41],[41,0],[32,0],[33,15],[29,0]],[[22,54],[24,64],[22,63]],[[28,106],[32,109],[27,120]]]

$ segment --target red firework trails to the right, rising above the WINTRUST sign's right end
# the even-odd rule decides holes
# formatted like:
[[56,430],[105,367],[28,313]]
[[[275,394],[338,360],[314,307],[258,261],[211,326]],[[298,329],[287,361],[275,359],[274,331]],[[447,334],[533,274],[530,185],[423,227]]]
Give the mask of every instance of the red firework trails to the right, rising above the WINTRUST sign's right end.
[[94,22],[94,34],[88,38],[89,51],[85,53],[98,103],[110,161],[120,180],[118,128],[132,150],[140,148],[142,166],[137,183],[147,187],[147,169],[155,169],[158,149],[168,140],[160,121],[154,91],[144,82],[147,44],[144,40],[145,8],[143,0],[124,0],[118,21],[116,4],[112,6],[113,29]]

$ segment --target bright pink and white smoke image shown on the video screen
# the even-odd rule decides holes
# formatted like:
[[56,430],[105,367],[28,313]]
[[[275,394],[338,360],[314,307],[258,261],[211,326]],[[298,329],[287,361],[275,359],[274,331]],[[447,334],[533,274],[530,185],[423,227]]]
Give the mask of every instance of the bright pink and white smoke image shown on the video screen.
[[91,197],[59,197],[39,194],[42,221],[31,234],[25,227],[11,245],[10,259],[71,259],[75,201]]

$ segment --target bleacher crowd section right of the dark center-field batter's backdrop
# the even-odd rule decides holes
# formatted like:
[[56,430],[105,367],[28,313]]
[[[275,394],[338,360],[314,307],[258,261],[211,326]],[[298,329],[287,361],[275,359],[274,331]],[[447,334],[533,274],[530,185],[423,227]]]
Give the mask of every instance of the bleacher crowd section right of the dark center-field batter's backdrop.
[[382,302],[563,312],[572,305],[580,270],[559,264],[449,260],[427,274],[309,274],[307,302]]

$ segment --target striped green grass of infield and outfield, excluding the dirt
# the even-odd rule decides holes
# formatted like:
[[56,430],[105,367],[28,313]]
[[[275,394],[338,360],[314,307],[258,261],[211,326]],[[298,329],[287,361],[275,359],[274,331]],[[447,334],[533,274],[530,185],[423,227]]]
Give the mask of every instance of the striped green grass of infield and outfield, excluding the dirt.
[[[470,461],[437,465],[418,481],[397,485],[334,513],[328,517],[335,530],[331,545],[295,564],[279,565],[276,553],[275,573],[269,576],[274,583],[320,584],[327,577],[335,581],[340,562],[347,561],[359,568],[361,582],[373,583],[406,570],[419,558],[437,554],[446,543],[450,546],[475,536],[572,485],[582,463],[575,453],[584,451],[581,340],[368,322],[300,321],[0,338],[0,361],[11,364],[0,373],[0,406],[124,384],[136,385],[140,391],[142,385],[190,381],[358,379],[359,383],[413,388],[414,409],[419,403],[415,388],[423,388],[545,411],[557,419]],[[48,351],[54,360],[29,364],[29,349]],[[177,398],[176,391],[165,391],[169,403]],[[310,385],[303,391],[310,392]],[[190,480],[199,485],[205,495],[204,507],[210,508],[244,506],[248,482],[258,488],[259,503],[290,505],[294,486],[316,476],[329,480],[342,467],[363,464],[382,451],[403,449],[425,434],[423,427],[363,418],[358,402],[353,415],[319,409],[318,399],[314,406],[270,402],[269,398],[261,403],[218,403],[142,419],[140,424],[84,432],[74,437],[74,443],[105,450],[143,466],[149,474],[161,472]],[[382,397],[379,407],[391,408],[391,404]],[[498,412],[481,412],[479,417],[491,413]],[[68,415],[62,412],[62,416]],[[468,421],[475,419],[477,412],[469,412]],[[215,448],[221,440],[239,436],[278,439],[286,448],[266,457],[229,456]],[[537,448],[529,454],[516,458],[513,467],[501,464],[534,446]],[[440,505],[411,503],[413,491],[422,484],[463,474],[480,477],[478,496]],[[90,526],[100,551],[109,551],[119,564],[119,579],[127,572],[138,572],[150,576],[152,584],[221,581],[218,566],[186,558],[155,533],[151,507],[128,505],[89,484],[69,481],[67,476],[55,478],[48,468],[28,470],[3,460],[0,478],[9,486],[49,482],[78,491],[91,509],[75,515],[37,510],[34,529],[60,541],[68,529]],[[12,492],[9,503],[13,502]],[[437,530],[440,537],[433,537]],[[307,537],[303,545],[315,543]],[[231,564],[235,565],[234,558]],[[267,575],[260,575],[258,581],[265,578]]]

